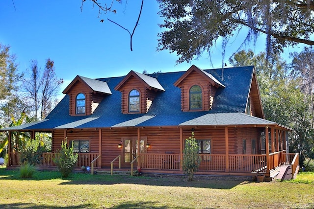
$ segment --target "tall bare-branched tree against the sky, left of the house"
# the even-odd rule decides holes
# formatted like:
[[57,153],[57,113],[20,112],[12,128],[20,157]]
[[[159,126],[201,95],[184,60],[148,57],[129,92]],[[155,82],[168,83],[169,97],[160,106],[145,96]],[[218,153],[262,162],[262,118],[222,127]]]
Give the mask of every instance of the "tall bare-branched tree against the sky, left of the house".
[[24,79],[24,87],[28,97],[34,106],[35,120],[44,119],[52,110],[53,102],[58,93],[63,79],[58,79],[55,74],[54,62],[46,60],[45,69],[41,71],[37,60],[30,61],[30,72]]

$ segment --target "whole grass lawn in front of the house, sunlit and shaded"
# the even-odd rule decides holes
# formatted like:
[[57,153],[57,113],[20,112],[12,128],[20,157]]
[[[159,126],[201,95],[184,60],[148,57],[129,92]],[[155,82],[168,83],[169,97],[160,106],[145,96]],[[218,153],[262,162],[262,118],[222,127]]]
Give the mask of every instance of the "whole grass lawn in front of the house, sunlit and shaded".
[[[35,172],[0,168],[0,208],[15,209],[312,209],[314,173],[296,180],[255,183],[183,177],[145,177]],[[305,180],[309,180],[306,183]],[[303,181],[303,182],[302,182]]]

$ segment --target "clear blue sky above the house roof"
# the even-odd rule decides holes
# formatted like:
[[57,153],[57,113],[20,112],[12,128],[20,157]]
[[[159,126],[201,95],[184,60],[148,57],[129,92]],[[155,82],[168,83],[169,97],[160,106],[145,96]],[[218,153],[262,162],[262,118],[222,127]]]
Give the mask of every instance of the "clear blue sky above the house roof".
[[[141,0],[124,0],[121,5],[115,4],[116,14],[103,13],[98,18],[98,8],[93,8],[89,0],[82,11],[81,0],[1,0],[0,43],[11,46],[10,52],[17,56],[20,71],[29,68],[31,59],[36,59],[43,68],[45,60],[51,58],[58,77],[65,81],[61,92],[76,75],[102,78],[123,76],[130,70],[182,71],[192,64],[201,69],[212,68],[206,53],[191,63],[177,65],[176,53],[156,51],[157,33],[161,31],[157,24],[162,23],[156,0],[144,1],[131,51],[128,32],[106,19],[132,31],[140,4]],[[230,41],[225,62],[243,41],[240,38],[241,35]],[[264,40],[259,39],[252,49],[258,53],[264,48]],[[286,54],[293,50],[287,49]],[[211,51],[213,67],[221,68],[221,44],[218,42]]]

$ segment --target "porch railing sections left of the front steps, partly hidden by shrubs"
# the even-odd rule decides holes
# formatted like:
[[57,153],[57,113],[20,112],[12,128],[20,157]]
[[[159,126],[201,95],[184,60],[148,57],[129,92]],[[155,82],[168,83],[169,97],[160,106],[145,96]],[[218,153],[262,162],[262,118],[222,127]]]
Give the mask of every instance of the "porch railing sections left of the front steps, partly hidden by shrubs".
[[[56,166],[55,163],[53,163],[52,159],[55,157],[57,153],[53,152],[44,152],[40,156],[40,163],[38,163],[36,166]],[[76,163],[76,167],[81,166],[91,166],[91,162],[99,156],[98,153],[78,153],[78,162]],[[94,161],[94,167],[99,167],[100,158],[98,158],[96,161]],[[10,166],[19,166],[20,165],[20,157],[19,153],[17,152],[11,152],[10,153]]]

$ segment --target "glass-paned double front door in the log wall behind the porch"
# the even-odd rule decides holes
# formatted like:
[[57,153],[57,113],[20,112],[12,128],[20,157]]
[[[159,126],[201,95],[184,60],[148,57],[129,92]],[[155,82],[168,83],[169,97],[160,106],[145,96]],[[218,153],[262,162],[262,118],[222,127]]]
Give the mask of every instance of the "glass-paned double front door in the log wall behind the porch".
[[[140,152],[143,153],[145,140],[140,140]],[[123,155],[122,155],[122,163],[123,166],[129,167],[131,166],[131,162],[136,158],[139,154],[138,150],[138,140],[135,138],[123,139]],[[136,166],[136,164],[135,164]]]

